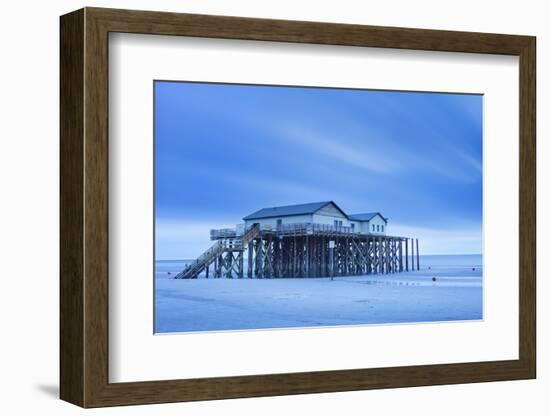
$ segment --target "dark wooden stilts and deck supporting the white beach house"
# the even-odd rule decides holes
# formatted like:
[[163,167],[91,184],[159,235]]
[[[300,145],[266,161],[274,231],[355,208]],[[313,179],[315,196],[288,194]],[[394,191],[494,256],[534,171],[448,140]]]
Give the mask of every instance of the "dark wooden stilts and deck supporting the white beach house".
[[254,234],[249,234],[250,240],[244,241],[236,236],[222,236],[219,246],[212,246],[201,256],[206,259],[204,263],[193,266],[196,272],[189,266],[191,272],[187,274],[197,277],[204,271],[206,278],[211,275],[213,278],[244,278],[245,273],[248,278],[284,278],[420,270],[418,238],[312,228],[286,234],[282,227],[276,231],[258,228]]

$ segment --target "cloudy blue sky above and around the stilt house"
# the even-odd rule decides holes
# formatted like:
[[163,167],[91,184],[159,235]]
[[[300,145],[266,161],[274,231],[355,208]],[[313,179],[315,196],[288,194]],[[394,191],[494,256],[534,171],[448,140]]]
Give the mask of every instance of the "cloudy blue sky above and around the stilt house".
[[262,207],[380,211],[421,254],[482,247],[482,96],[155,83],[156,258]]

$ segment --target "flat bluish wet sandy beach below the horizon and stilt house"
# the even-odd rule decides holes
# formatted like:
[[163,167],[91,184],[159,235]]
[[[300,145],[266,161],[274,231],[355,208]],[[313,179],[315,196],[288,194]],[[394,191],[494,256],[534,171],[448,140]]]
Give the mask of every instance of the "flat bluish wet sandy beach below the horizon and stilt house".
[[155,332],[482,319],[481,256],[436,260],[414,272],[334,280],[175,280],[167,270],[180,265],[166,263],[157,267]]

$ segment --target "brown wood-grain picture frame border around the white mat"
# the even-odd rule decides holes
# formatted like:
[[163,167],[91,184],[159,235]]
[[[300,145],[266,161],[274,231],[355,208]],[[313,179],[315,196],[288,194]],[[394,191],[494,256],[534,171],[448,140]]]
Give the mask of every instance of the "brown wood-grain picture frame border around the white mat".
[[[535,378],[534,37],[100,8],[64,15],[60,27],[60,396],[63,400],[82,407],[101,407]],[[109,383],[110,32],[519,56],[519,359]]]

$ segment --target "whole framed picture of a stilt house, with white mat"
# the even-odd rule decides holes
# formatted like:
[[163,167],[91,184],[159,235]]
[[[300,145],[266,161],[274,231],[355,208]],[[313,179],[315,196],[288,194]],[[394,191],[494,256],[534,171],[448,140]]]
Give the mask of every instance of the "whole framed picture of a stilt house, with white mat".
[[534,378],[535,49],[62,16],[61,398]]

